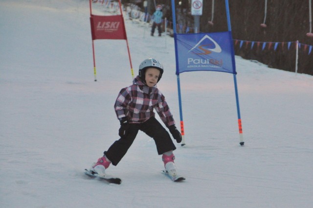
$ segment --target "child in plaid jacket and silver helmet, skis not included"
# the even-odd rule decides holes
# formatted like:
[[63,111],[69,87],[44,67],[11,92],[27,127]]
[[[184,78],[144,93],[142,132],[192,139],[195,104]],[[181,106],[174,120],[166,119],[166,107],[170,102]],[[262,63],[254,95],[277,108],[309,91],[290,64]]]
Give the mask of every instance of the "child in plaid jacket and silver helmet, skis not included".
[[162,155],[165,169],[169,175],[175,177],[173,150],[176,149],[169,133],[156,120],[153,109],[169,128],[173,138],[181,142],[181,134],[175,126],[174,118],[165,101],[164,95],[156,88],[163,74],[163,66],[156,59],[146,59],[139,66],[139,74],[134,78],[133,85],[123,88],[115,101],[114,109],[120,121],[118,135],[111,147],[104,152],[104,156],[93,163],[89,171],[105,176],[105,170],[112,163],[117,165],[127,150],[131,147],[138,131],[143,131],[156,143],[158,155]]

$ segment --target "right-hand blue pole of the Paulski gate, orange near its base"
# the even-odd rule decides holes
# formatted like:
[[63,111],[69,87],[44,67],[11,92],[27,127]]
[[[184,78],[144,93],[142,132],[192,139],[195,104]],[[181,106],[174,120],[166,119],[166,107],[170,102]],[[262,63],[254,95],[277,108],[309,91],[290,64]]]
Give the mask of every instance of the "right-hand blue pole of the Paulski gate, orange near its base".
[[[226,16],[227,16],[227,27],[228,27],[228,31],[229,31],[229,34],[230,34],[230,40],[232,41],[228,0],[225,0],[225,7],[226,7]],[[233,71],[234,71],[233,75],[234,75],[234,85],[235,85],[236,104],[237,104],[239,139],[240,139],[240,145],[243,146],[245,144],[245,142],[244,142],[243,128],[242,128],[241,116],[240,116],[239,96],[238,96],[237,78],[236,78],[237,72],[236,72],[236,65],[235,65],[234,47],[232,48],[231,53],[232,53],[231,54],[231,58],[232,58]]]

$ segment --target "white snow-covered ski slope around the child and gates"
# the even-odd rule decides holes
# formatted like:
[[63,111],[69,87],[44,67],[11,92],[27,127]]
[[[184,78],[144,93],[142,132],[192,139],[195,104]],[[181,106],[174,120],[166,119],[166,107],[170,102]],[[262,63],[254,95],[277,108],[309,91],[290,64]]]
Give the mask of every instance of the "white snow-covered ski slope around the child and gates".
[[[174,41],[126,20],[134,72],[148,57],[179,126]],[[160,174],[153,140],[139,133],[107,173],[83,173],[118,139],[113,104],[132,83],[125,41],[95,41],[88,0],[0,1],[1,208],[311,208],[313,77],[236,57],[245,146],[239,145],[233,77],[180,74],[186,145],[182,183]]]

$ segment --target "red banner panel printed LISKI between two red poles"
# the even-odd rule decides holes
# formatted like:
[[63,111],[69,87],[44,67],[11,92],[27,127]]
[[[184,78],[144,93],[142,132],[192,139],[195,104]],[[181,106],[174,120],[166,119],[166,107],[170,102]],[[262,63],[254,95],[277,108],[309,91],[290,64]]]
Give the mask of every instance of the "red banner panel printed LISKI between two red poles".
[[90,16],[91,37],[96,39],[126,40],[126,31],[122,15]]

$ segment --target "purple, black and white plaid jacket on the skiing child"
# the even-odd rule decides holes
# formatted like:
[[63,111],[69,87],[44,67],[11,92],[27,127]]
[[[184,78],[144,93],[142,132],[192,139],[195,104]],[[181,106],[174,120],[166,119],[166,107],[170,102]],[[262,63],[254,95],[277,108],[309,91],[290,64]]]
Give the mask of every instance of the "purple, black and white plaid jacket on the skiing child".
[[130,123],[145,122],[155,116],[153,109],[156,109],[167,127],[175,125],[164,95],[156,86],[148,87],[143,84],[138,76],[134,78],[133,85],[119,92],[114,109],[118,119],[127,117]]

